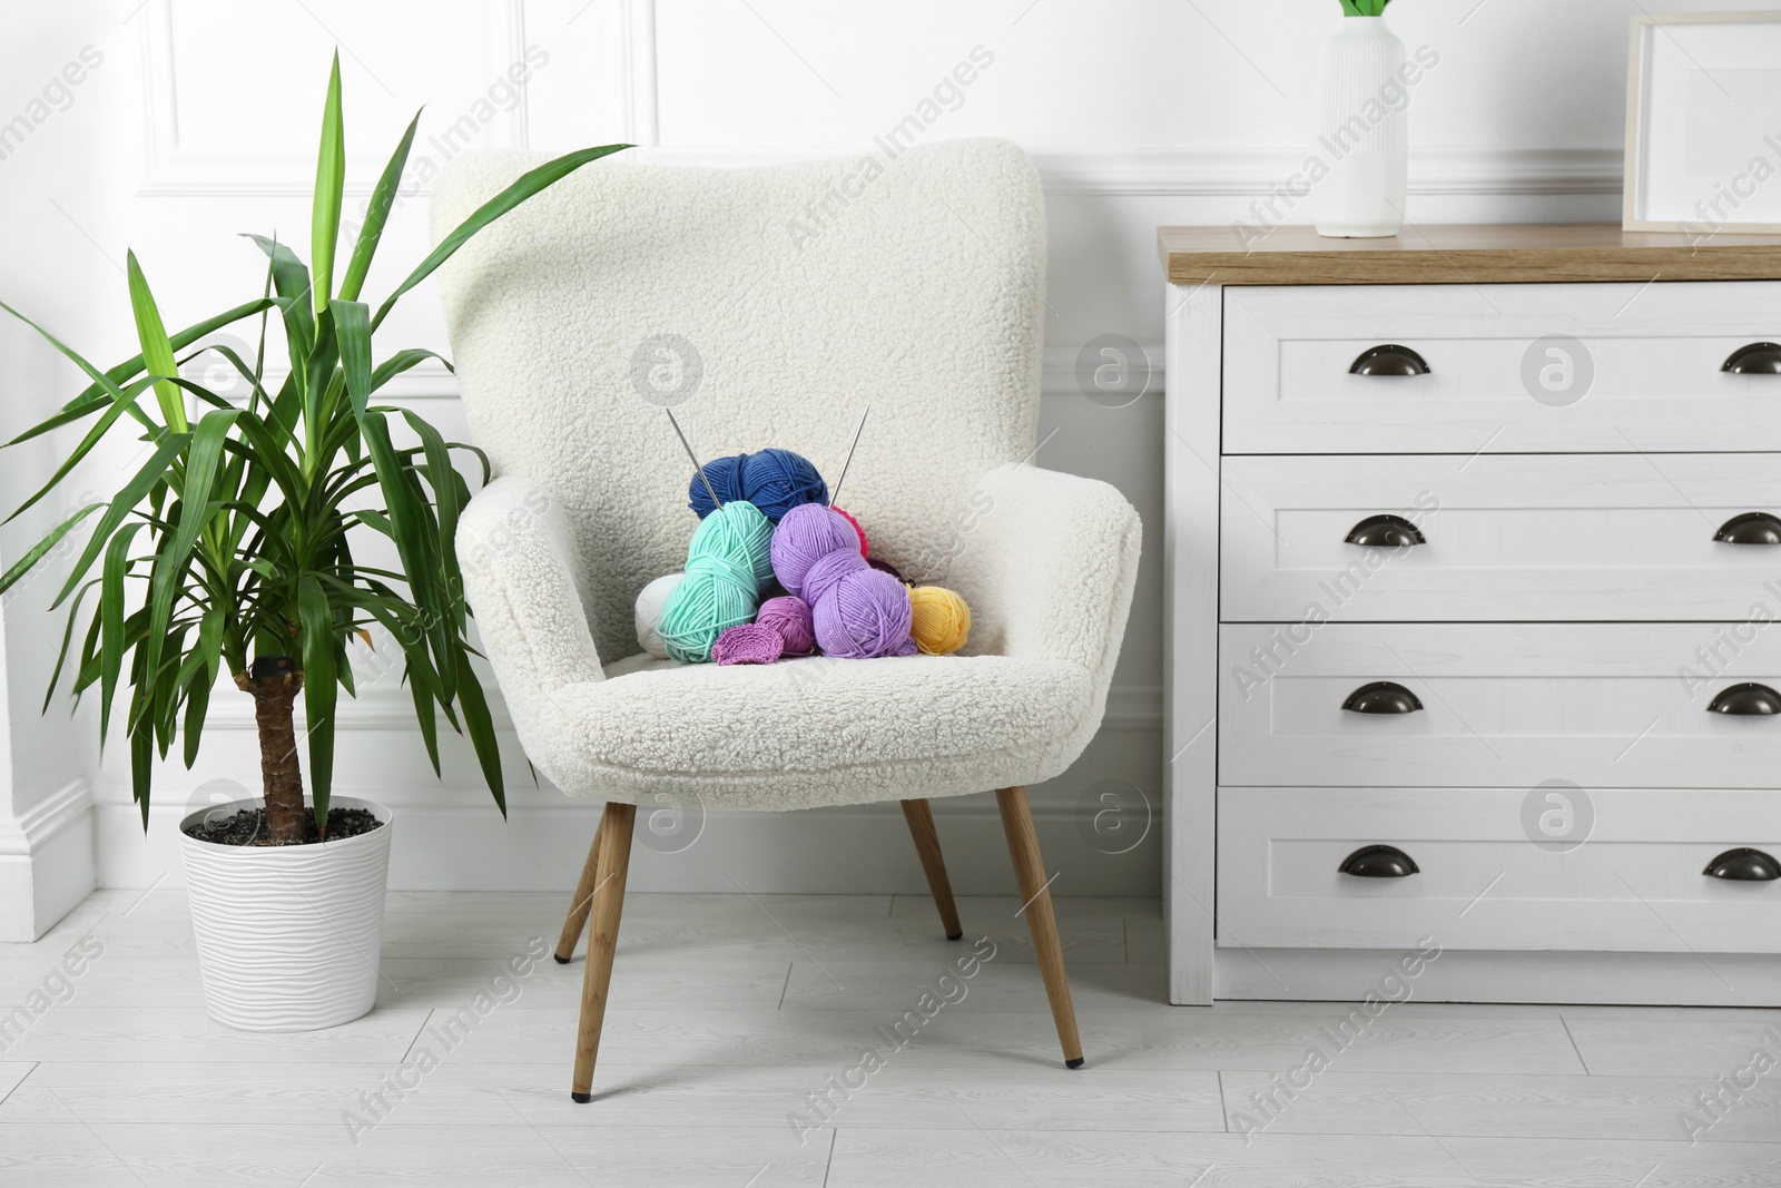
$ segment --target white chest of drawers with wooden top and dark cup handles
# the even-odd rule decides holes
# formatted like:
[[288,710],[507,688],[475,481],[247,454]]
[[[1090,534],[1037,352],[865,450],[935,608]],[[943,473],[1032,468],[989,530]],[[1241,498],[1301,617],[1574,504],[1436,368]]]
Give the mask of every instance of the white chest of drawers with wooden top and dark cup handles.
[[1781,239],[1159,249],[1172,999],[1781,1005]]

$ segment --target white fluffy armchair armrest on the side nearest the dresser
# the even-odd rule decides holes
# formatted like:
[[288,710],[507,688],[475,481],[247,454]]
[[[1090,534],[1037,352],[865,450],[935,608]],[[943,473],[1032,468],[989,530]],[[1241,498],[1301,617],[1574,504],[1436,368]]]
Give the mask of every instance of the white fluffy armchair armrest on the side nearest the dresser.
[[971,604],[971,652],[1072,661],[1104,693],[1138,581],[1142,525],[1113,486],[996,467],[953,540],[949,582]]

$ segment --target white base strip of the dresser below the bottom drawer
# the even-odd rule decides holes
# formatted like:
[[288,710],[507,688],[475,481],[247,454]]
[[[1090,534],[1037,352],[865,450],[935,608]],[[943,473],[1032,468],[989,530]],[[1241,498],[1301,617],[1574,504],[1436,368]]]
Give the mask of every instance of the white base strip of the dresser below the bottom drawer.
[[[1418,1003],[1571,1003],[1617,1006],[1781,1006],[1772,953],[1558,953],[1446,949],[1414,978],[1396,949],[1218,949],[1220,999],[1362,1001],[1393,997],[1387,974]],[[1396,996],[1402,999],[1403,990]]]

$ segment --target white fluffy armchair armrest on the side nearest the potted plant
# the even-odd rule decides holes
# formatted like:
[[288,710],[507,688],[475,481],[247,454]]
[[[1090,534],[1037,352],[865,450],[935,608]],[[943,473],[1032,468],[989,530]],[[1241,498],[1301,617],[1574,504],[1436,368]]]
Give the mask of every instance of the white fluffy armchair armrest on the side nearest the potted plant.
[[458,520],[458,563],[516,725],[556,689],[602,679],[575,541],[545,488],[508,474],[477,492]]

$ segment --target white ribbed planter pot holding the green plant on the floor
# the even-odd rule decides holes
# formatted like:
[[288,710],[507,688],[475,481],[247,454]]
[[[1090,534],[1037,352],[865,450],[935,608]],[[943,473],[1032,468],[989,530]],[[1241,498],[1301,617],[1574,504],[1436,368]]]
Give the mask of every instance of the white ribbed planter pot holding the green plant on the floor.
[[180,821],[198,969],[217,1022],[317,1031],[358,1019],[376,1001],[390,810],[351,796],[331,803],[365,809],[383,828],[317,846],[219,846],[185,834],[219,810],[258,807],[253,800]]

